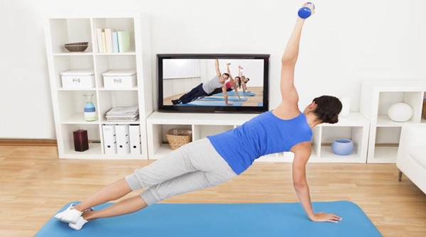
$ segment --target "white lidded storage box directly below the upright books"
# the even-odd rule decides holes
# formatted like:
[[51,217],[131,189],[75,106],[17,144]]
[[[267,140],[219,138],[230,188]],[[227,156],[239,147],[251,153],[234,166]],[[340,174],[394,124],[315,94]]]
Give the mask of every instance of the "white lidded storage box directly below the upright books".
[[132,88],[136,86],[136,70],[109,70],[102,73],[105,88]]

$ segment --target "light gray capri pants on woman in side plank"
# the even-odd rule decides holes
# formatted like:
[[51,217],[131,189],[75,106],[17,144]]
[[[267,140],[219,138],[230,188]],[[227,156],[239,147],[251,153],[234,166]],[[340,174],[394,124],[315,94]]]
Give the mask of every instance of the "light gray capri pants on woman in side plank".
[[126,176],[134,191],[146,189],[141,197],[151,205],[168,197],[212,187],[236,177],[207,138],[174,150],[165,158]]

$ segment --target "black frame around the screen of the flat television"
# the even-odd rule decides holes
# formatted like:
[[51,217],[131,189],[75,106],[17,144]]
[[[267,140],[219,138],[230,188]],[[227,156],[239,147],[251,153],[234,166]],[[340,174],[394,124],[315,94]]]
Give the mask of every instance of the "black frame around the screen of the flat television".
[[[269,58],[268,54],[157,54],[157,105],[160,112],[178,113],[229,113],[260,114],[269,108]],[[165,59],[259,59],[263,60],[263,106],[175,106],[163,104],[163,60]]]

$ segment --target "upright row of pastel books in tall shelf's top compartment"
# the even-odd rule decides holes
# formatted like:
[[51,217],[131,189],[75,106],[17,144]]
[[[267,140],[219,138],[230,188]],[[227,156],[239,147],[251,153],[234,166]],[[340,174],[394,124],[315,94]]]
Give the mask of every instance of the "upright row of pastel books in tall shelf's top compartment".
[[98,53],[124,53],[130,48],[129,31],[116,31],[114,28],[97,28]]

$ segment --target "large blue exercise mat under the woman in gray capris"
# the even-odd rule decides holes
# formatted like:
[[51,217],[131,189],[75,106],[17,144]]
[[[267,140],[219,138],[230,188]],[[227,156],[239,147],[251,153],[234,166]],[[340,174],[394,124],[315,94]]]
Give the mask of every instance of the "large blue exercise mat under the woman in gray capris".
[[[102,209],[109,204],[95,206]],[[381,236],[366,214],[352,202],[315,202],[315,211],[342,216],[338,224],[312,222],[299,203],[272,204],[153,204],[124,216],[97,219],[75,231],[50,219],[35,235],[53,236]],[[66,209],[69,204],[62,207]]]

